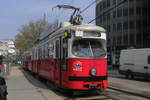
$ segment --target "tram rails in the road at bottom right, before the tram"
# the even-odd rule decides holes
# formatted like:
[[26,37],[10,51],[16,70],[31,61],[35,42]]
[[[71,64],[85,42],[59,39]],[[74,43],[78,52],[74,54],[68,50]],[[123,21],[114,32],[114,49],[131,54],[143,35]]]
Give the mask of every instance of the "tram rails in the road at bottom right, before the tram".
[[[139,98],[137,100],[150,100],[149,96],[145,96],[145,95],[138,94],[138,93],[133,93],[133,92],[130,92],[127,90],[119,89],[117,87],[108,86],[107,90],[115,91],[118,94],[129,96],[129,98],[131,98],[131,97],[135,98],[134,100],[136,100],[136,98]],[[87,94],[87,96],[78,96],[78,97],[74,97],[74,98],[66,98],[65,100],[133,100],[133,99],[120,98],[118,95],[112,96],[112,95],[110,95],[111,92],[108,93],[108,91],[105,91],[103,93],[101,93],[101,92],[97,92],[97,93],[98,94],[93,95],[93,96],[92,95],[89,96]]]

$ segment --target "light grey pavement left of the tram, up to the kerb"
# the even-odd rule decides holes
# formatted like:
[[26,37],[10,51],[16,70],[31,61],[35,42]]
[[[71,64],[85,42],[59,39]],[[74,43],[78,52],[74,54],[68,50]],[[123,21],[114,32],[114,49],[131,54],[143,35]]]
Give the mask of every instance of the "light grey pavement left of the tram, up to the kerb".
[[10,75],[6,79],[8,86],[8,100],[46,100],[18,70],[18,67],[12,67]]

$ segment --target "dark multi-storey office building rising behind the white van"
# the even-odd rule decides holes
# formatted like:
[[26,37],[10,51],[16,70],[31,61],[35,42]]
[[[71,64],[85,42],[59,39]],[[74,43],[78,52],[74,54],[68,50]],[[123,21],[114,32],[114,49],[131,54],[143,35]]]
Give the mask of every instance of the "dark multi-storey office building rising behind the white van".
[[109,52],[150,47],[150,0],[96,0],[96,17]]

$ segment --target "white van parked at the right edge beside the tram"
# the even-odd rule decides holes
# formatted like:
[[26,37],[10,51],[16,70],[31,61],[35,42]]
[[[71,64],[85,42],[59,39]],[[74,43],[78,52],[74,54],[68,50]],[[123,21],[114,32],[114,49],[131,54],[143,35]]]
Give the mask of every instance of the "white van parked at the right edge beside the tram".
[[150,79],[150,48],[121,50],[119,73],[127,78]]

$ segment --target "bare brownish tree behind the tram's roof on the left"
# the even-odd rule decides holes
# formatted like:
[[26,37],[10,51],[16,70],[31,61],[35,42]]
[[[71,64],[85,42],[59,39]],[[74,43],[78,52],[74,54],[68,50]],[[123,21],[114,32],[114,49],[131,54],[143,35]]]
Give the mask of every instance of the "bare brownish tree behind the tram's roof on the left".
[[51,24],[45,18],[30,21],[28,24],[22,25],[19,29],[19,34],[15,36],[16,48],[24,52],[33,47],[45,28],[48,28],[48,32],[52,30]]

